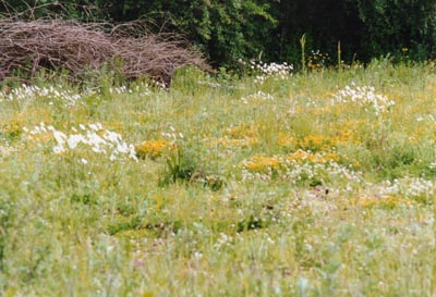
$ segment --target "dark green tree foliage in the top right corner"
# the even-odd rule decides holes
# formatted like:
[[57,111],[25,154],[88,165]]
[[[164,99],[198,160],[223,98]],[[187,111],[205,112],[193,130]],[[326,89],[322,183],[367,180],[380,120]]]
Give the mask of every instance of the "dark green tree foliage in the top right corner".
[[370,55],[410,48],[415,58],[435,52],[436,1],[358,1],[363,50]]

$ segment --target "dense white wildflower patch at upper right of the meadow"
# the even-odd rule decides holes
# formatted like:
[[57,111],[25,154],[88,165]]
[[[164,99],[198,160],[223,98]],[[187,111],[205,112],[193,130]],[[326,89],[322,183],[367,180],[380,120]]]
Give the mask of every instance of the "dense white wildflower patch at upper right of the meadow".
[[372,86],[346,86],[338,90],[332,98],[332,104],[354,103],[365,110],[373,110],[375,114],[387,112],[390,107],[395,106],[395,101],[389,100],[387,96],[377,94]]

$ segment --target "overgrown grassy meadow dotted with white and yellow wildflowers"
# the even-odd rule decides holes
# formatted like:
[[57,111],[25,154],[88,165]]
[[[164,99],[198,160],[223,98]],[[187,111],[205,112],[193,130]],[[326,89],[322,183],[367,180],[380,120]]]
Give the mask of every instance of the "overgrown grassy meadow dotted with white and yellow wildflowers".
[[0,296],[434,296],[435,64],[263,71],[4,87]]

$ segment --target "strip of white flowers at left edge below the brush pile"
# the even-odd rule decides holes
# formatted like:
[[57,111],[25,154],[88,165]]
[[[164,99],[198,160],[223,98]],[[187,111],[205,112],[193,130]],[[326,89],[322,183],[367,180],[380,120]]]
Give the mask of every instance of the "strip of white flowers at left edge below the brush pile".
[[19,88],[13,88],[9,94],[0,92],[0,102],[1,101],[31,102],[38,98],[45,98],[48,100],[61,99],[65,103],[65,106],[73,107],[77,101],[82,99],[82,96],[71,90],[57,89],[53,86],[40,88],[38,86],[27,86],[27,85],[22,85]]

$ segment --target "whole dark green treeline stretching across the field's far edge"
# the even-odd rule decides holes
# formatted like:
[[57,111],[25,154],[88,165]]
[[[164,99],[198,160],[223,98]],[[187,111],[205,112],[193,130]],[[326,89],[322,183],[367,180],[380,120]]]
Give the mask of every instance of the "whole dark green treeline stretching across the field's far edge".
[[[40,8],[29,10],[35,7]],[[436,0],[0,0],[5,15],[23,11],[23,18],[142,18],[155,30],[182,33],[216,66],[261,54],[299,64],[303,34],[307,53],[320,50],[332,63],[339,41],[346,62],[436,53]]]

